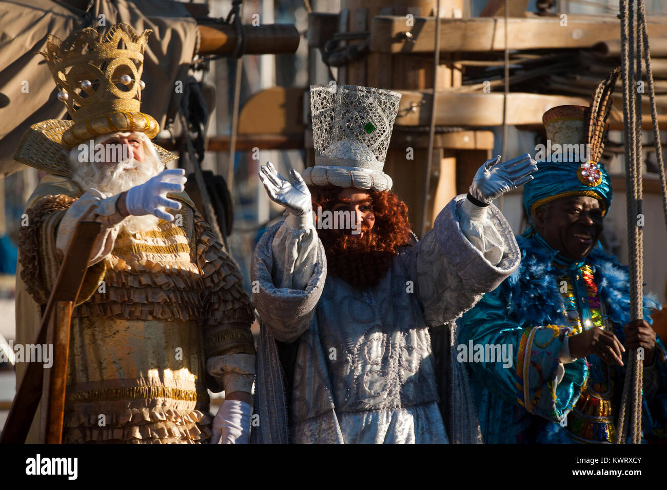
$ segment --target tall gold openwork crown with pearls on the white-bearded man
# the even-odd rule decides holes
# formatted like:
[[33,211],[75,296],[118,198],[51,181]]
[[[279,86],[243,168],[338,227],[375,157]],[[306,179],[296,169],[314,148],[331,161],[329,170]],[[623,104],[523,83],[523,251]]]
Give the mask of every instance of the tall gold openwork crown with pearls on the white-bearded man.
[[141,113],[143,51],[150,29],[136,35],[119,23],[99,34],[92,27],[71,33],[65,41],[49,35],[46,58],[73,125],[62,134],[67,149],[97,135],[141,131],[155,137],[159,125]]

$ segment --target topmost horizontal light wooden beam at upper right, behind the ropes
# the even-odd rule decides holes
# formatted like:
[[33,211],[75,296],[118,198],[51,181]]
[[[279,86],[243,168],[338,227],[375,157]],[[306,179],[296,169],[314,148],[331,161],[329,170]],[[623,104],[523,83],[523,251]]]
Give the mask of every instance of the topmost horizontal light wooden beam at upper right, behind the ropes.
[[[502,51],[504,19],[473,17],[440,19],[442,51]],[[667,36],[666,17],[646,19],[650,37]],[[414,27],[406,27],[406,18],[378,15],[371,20],[371,51],[378,53],[432,53],[435,39],[434,17],[415,17]],[[414,43],[402,33],[410,31]],[[510,49],[588,48],[600,41],[616,39],[620,24],[614,15],[568,15],[567,25],[560,17],[512,18],[508,21]]]

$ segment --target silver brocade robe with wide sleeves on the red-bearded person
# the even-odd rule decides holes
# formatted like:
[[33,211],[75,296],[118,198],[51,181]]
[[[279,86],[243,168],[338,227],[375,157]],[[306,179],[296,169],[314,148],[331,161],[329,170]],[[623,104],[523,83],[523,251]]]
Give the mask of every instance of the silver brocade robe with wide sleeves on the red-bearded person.
[[[253,442],[448,442],[428,327],[451,329],[519,261],[500,211],[461,195],[422,241],[396,254],[380,284],[360,291],[326,276],[310,217],[288,215],[267,230],[253,257],[261,317]],[[298,342],[289,410],[276,340]],[[471,425],[449,439],[474,442],[464,370],[448,365],[456,393],[446,413]]]

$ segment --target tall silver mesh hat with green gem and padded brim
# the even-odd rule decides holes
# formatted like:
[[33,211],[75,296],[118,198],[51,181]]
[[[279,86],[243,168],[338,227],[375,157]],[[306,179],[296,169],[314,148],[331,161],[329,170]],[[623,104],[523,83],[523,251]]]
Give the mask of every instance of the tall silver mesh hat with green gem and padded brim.
[[315,167],[307,185],[392,189],[382,171],[401,94],[357,85],[311,85]]

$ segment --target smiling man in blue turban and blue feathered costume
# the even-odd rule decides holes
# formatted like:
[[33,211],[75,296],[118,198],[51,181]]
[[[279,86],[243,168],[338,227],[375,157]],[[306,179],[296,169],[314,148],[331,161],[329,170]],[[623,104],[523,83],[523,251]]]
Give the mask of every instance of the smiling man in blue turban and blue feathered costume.
[[613,442],[627,352],[640,347],[644,435],[666,434],[667,352],[649,325],[660,304],[645,296],[644,319],[630,322],[627,268],[598,242],[612,200],[604,119],[581,106],[544,114],[520,267],[460,320],[486,443]]

